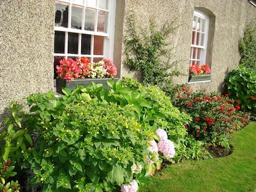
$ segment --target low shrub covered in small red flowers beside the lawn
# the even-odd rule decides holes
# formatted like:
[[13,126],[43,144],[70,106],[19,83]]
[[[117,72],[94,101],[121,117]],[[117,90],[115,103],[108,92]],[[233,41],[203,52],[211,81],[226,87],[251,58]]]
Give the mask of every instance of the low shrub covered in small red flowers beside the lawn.
[[191,92],[188,85],[175,90],[172,102],[193,118],[187,125],[188,133],[211,145],[228,147],[232,133],[250,120],[248,113],[239,111],[239,100],[234,102],[228,95],[223,97],[214,92]]

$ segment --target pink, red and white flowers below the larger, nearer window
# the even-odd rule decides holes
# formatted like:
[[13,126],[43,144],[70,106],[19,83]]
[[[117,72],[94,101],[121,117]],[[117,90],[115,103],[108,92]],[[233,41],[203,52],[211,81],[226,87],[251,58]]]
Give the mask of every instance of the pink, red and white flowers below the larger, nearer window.
[[111,60],[103,60],[93,63],[89,58],[63,58],[60,65],[56,65],[56,73],[62,79],[103,78],[116,76],[116,67]]

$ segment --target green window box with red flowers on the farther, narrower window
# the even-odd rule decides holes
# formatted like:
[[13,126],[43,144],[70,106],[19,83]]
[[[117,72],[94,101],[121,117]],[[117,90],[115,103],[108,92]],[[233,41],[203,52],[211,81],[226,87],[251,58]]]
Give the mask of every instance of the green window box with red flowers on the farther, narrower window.
[[210,81],[211,80],[211,68],[209,65],[198,65],[194,63],[189,65],[189,82],[196,81]]

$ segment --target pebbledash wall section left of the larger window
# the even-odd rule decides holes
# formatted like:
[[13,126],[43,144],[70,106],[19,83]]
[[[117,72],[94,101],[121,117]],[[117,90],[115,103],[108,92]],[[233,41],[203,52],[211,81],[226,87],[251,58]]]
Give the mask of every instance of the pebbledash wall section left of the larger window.
[[54,6],[0,1],[0,119],[10,100],[52,90]]

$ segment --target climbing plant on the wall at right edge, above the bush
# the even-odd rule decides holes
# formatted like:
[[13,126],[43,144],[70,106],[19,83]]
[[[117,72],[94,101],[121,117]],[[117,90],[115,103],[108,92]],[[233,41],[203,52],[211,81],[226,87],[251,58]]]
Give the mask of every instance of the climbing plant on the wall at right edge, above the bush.
[[240,65],[256,70],[256,27],[253,22],[248,24],[244,37],[239,40],[239,51],[241,54]]

